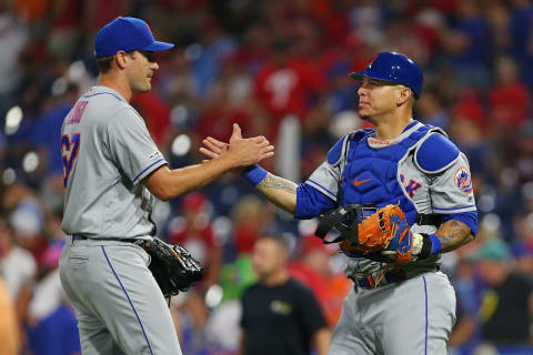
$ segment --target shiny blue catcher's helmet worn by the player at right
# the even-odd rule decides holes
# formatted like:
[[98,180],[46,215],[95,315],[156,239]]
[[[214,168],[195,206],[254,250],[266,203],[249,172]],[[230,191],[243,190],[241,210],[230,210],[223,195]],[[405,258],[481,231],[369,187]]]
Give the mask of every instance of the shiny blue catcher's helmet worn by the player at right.
[[398,82],[410,88],[418,99],[422,92],[424,77],[420,67],[409,57],[396,52],[378,53],[368,64],[366,69],[349,74],[361,80],[372,78],[389,82]]

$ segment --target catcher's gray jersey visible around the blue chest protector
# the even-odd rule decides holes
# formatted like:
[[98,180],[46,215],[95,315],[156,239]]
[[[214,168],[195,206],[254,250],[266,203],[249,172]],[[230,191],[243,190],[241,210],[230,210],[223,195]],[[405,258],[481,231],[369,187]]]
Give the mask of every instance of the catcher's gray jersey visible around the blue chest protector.
[[[368,139],[368,145],[372,150],[384,150],[408,140],[423,126],[420,122],[411,124],[401,135],[391,141],[386,141],[386,143],[371,136]],[[420,214],[450,214],[476,211],[472,189],[462,191],[456,184],[457,174],[461,172],[470,173],[469,162],[465,155],[459,153],[444,166],[440,166],[434,171],[422,168],[418,162],[418,158],[419,154],[422,154],[419,151],[423,143],[432,134],[443,134],[445,136],[445,133],[440,129],[428,130],[424,134],[425,135],[406,150],[398,162],[398,171],[394,173],[394,179],[398,181],[399,186],[401,186],[403,196],[414,204],[415,212]],[[325,161],[311,174],[308,181],[305,181],[306,184],[321,191],[324,195],[338,203],[341,202],[339,201],[339,196],[341,195],[340,190],[342,189],[341,181],[344,169],[349,163],[348,151],[350,150],[350,142],[348,138],[349,135],[346,135],[345,144],[342,148],[339,159],[333,163]],[[372,166],[369,166],[369,170],[372,170]],[[376,173],[376,175],[378,174],[383,175],[382,172]],[[414,223],[411,225],[411,230],[416,233],[432,234],[436,231],[436,226]],[[441,256],[439,254],[422,261],[413,261],[405,265],[404,270],[408,274],[420,274],[424,271],[434,270],[435,264],[439,264],[440,261]],[[348,275],[365,275],[379,268],[380,265],[376,262],[366,258],[348,257]]]

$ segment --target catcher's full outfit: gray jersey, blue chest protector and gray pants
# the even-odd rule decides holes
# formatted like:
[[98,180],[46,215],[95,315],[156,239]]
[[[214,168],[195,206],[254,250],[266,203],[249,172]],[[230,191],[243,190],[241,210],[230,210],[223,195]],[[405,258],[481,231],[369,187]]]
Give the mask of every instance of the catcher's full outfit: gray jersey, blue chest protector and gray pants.
[[[466,158],[442,130],[418,121],[391,141],[378,140],[372,130],[346,134],[299,191],[298,216],[336,205],[399,204],[419,233],[438,227],[419,225],[420,215],[475,214]],[[355,287],[344,301],[329,354],[446,354],[455,294],[438,271],[440,254],[384,274],[388,265],[355,255],[346,260]]]

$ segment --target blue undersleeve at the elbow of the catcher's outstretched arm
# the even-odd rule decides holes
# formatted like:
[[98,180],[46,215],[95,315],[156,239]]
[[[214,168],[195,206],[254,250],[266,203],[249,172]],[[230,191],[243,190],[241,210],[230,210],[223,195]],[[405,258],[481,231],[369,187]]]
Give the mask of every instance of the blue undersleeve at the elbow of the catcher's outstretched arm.
[[296,209],[294,217],[309,220],[336,207],[336,202],[309,184],[300,184],[296,189]]

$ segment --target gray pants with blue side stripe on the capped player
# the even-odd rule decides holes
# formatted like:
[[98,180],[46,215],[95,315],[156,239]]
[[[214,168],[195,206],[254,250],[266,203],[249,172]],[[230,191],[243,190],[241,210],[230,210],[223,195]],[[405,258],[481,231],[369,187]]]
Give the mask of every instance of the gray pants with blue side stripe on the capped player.
[[67,237],[60,276],[76,311],[83,355],[181,355],[149,262],[132,243]]

